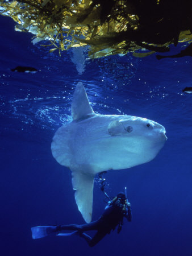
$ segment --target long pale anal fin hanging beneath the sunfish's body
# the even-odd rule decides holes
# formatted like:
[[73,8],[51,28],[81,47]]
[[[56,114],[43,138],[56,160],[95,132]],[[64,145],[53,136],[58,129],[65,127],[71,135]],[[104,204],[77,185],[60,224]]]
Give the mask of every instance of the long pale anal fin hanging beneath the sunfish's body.
[[84,220],[91,221],[93,207],[93,183],[94,175],[85,174],[79,170],[72,171],[72,184],[75,199]]

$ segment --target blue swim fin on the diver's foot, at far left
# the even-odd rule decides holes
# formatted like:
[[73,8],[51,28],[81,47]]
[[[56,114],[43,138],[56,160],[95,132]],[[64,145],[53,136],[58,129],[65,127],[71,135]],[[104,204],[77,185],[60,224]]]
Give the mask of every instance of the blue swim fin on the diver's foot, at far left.
[[31,228],[31,232],[33,239],[46,237],[49,234],[54,234],[56,232],[58,233],[56,226],[34,226]]

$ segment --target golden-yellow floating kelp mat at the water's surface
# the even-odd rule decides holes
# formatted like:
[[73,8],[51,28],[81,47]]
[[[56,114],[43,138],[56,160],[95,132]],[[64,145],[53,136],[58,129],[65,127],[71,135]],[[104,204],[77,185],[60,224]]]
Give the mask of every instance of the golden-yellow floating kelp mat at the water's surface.
[[[169,51],[192,40],[191,0],[21,0],[3,1],[1,14],[48,39],[50,52],[89,46],[89,56],[126,54],[139,49]],[[150,53],[147,52],[146,55]],[[139,56],[135,53],[135,56]],[[142,53],[145,56],[145,53]]]

